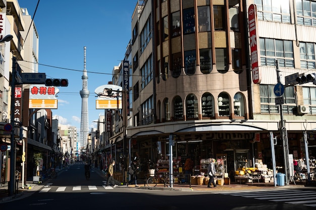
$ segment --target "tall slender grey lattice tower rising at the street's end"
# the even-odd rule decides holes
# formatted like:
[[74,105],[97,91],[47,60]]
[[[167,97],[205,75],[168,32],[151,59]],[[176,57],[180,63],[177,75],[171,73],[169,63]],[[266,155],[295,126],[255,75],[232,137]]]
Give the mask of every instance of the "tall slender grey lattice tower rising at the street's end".
[[84,60],[83,60],[83,74],[82,74],[82,90],[81,96],[81,123],[80,123],[80,148],[85,149],[88,143],[89,134],[89,120],[88,120],[88,97],[90,91],[88,90],[88,75],[86,70],[86,47],[83,47]]

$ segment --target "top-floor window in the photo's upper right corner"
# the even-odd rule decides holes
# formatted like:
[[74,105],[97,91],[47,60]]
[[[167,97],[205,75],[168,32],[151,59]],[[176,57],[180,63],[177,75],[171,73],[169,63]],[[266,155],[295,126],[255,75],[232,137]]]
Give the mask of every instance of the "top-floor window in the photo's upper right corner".
[[316,26],[316,2],[296,0],[297,24]]

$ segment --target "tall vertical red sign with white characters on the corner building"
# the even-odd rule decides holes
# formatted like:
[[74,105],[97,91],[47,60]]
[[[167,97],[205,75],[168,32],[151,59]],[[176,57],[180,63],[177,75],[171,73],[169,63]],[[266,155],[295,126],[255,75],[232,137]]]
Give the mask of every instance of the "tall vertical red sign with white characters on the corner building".
[[260,51],[258,50],[259,39],[257,39],[257,7],[252,4],[248,8],[248,21],[249,21],[249,38],[250,38],[250,51],[251,51],[251,69],[252,81],[254,84],[261,82],[259,71],[260,66]]

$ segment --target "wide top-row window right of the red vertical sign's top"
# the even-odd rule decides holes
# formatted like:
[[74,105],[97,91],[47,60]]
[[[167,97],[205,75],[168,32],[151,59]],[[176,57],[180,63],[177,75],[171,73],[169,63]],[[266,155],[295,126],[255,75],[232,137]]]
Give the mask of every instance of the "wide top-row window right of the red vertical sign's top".
[[289,1],[254,0],[258,20],[291,23]]

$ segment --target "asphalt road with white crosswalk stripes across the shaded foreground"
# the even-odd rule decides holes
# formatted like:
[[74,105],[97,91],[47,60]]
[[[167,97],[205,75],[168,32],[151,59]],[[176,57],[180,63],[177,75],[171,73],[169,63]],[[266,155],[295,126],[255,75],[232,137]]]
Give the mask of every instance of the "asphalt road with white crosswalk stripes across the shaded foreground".
[[[105,187],[104,176],[84,164],[75,163],[28,197],[2,203],[1,209],[315,209],[316,192],[311,189],[262,191],[166,191]],[[298,197],[298,198],[297,198]],[[299,198],[304,197],[303,201]],[[299,201],[298,201],[299,200]],[[293,203],[297,201],[298,203]]]

